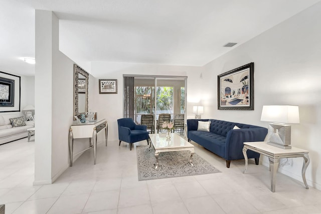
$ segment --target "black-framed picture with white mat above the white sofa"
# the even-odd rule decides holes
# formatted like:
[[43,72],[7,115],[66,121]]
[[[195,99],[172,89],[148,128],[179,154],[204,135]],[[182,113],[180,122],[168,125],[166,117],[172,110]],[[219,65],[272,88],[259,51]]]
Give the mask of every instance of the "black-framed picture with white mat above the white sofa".
[[20,76],[0,72],[0,112],[20,111]]

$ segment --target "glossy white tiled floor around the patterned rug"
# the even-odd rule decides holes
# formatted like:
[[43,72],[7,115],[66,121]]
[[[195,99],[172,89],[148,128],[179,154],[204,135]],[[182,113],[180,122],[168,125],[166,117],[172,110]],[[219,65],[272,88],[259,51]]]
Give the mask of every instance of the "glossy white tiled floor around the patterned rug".
[[226,168],[223,159],[195,146],[222,173],[138,181],[135,147],[110,141],[98,145],[96,165],[87,150],[54,184],[32,186],[34,142],[1,145],[0,204],[6,214],[321,213],[321,191],[278,173],[272,193],[265,166],[250,162],[243,174],[244,160]]

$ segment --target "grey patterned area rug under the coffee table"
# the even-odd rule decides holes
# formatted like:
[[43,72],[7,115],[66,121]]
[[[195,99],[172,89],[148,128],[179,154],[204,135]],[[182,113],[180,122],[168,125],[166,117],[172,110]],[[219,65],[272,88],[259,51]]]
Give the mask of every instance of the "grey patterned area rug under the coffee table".
[[171,151],[159,154],[159,165],[155,169],[155,150],[149,146],[137,146],[138,180],[180,177],[221,172],[194,153],[193,165],[189,162],[190,151]]

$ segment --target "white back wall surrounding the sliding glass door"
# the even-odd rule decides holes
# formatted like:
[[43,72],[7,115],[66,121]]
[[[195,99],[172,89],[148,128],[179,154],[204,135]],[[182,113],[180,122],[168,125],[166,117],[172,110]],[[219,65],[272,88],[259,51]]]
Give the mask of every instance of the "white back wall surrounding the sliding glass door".
[[[95,106],[93,111],[98,112],[100,119],[108,121],[108,141],[118,140],[117,119],[123,117],[123,74],[135,75],[165,75],[165,76],[189,76],[189,85],[193,86],[197,82],[199,75],[199,67],[189,66],[168,66],[168,65],[150,65],[150,64],[130,64],[130,63],[92,63],[92,74],[95,76]],[[196,76],[197,78],[193,78]],[[190,77],[191,81],[190,81]],[[117,94],[99,94],[98,79],[117,79],[118,93]],[[203,87],[203,86],[202,86]],[[198,97],[201,95],[201,89],[193,87],[193,90],[188,91],[189,96]],[[189,95],[191,94],[191,95]],[[189,105],[189,104],[188,104]],[[188,112],[189,113],[189,112]],[[190,110],[192,114],[192,109]]]

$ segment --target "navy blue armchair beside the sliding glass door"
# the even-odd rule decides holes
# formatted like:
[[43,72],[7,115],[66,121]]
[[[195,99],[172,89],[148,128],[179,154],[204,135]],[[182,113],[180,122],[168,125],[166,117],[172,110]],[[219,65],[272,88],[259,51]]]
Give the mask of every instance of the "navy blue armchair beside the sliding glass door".
[[131,118],[121,118],[117,120],[118,123],[118,139],[120,142],[124,141],[129,143],[129,149],[131,150],[132,144],[141,140],[148,142],[148,134],[146,125],[137,125]]

